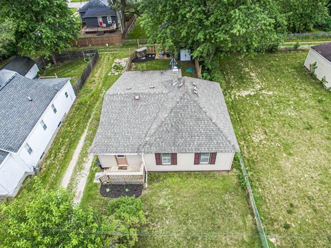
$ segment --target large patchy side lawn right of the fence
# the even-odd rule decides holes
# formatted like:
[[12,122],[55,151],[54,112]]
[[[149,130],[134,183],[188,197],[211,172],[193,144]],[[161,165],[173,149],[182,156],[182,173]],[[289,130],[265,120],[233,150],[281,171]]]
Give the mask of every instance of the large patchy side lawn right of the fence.
[[219,60],[263,225],[279,247],[331,245],[331,92],[305,71],[306,55]]

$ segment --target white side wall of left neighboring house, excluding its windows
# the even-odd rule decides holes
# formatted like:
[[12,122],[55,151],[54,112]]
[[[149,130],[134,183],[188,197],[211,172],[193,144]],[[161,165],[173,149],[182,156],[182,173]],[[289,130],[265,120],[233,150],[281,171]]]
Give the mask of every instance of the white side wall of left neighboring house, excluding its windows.
[[[65,92],[68,92],[68,98],[66,98]],[[39,118],[39,121],[34,126],[32,132],[30,132],[28,138],[26,138],[26,141],[19,149],[19,152],[17,152],[29,167],[37,165],[43,152],[48,146],[48,143],[51,141],[52,136],[57,132],[59,123],[63,120],[66,114],[68,114],[75,98],[76,96],[72,89],[72,85],[70,84],[70,81],[68,81],[68,83],[66,83],[66,85],[64,85],[54,97],[52,103],[48,105],[47,110],[43,113],[41,118]],[[52,104],[54,104],[57,109],[56,114],[54,114],[52,110]],[[47,125],[46,130],[43,130],[41,121]],[[32,154],[28,154],[24,147],[26,143],[32,148]]]

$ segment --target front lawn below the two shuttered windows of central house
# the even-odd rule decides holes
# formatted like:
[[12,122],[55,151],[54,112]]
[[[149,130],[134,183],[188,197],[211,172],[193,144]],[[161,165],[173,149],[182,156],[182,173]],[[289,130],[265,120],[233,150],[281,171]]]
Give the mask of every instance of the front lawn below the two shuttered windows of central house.
[[150,173],[141,200],[150,235],[137,247],[261,246],[236,170]]

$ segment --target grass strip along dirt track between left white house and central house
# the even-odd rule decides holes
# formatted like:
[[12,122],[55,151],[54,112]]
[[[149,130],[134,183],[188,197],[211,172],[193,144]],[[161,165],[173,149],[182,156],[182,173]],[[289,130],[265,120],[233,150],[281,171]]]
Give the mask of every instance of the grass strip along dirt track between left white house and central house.
[[[66,121],[63,122],[45,160],[41,164],[41,172],[38,174],[38,177],[41,179],[43,187],[49,189],[58,189],[60,187],[63,174],[66,172],[74,149],[77,147],[79,139],[86,129],[94,107],[102,101],[103,93],[119,77],[108,75],[108,72],[111,70],[112,61],[128,55],[128,52],[100,55],[99,61],[92,70],[92,74],[79,92]],[[101,107],[97,107],[97,110],[100,111]],[[98,125],[99,113],[94,114],[94,118],[90,123],[87,136],[88,140],[86,141],[88,145],[92,142]],[[81,156],[86,157],[88,155],[88,145],[84,145],[82,151],[84,154]],[[80,159],[84,159],[81,156]],[[32,189],[33,185],[33,177],[27,178],[18,197],[24,198],[32,195],[34,192]]]

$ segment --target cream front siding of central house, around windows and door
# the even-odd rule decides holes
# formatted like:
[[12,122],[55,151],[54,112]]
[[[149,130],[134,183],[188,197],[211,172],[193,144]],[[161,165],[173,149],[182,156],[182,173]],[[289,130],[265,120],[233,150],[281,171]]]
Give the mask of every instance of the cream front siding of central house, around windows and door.
[[[194,165],[194,153],[177,154],[177,165],[157,165],[155,154],[143,154],[148,172],[181,172],[181,171],[228,171],[232,167],[234,152],[218,152],[214,165]],[[128,166],[140,165],[140,155],[126,155]],[[114,155],[99,155],[102,167],[116,167]]]

